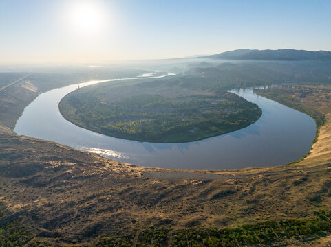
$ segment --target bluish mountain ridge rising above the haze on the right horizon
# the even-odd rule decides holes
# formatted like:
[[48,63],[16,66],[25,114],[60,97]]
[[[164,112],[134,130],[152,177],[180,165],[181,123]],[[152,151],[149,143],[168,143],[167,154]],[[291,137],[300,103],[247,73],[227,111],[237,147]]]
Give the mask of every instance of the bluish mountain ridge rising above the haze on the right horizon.
[[305,51],[305,50],[295,50],[295,49],[279,49],[279,50],[237,49],[235,51],[226,51],[220,54],[203,56],[203,58],[213,58],[213,59],[222,59],[222,60],[284,60],[284,61],[330,60],[331,61],[331,52]]

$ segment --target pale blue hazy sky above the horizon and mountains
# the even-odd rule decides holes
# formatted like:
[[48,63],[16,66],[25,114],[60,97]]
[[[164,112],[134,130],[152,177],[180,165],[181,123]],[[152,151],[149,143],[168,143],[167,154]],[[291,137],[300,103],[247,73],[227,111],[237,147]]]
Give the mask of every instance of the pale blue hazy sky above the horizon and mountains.
[[0,62],[331,51],[331,1],[0,0]]

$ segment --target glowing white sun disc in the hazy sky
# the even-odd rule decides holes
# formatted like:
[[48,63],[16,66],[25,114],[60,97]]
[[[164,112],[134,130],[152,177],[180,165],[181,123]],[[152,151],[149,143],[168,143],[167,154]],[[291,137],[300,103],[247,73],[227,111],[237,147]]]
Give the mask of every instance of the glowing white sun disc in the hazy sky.
[[96,34],[104,23],[104,14],[100,5],[94,1],[78,1],[70,6],[70,25],[80,34]]

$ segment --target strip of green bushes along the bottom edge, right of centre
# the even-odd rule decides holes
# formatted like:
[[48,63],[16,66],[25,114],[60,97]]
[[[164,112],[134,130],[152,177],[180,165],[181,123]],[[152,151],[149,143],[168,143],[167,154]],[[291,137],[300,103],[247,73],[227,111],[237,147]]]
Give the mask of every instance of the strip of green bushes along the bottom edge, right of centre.
[[235,228],[189,228],[173,231],[162,226],[149,228],[131,237],[105,237],[96,246],[252,246],[281,242],[303,243],[317,239],[317,234],[331,229],[331,212],[315,212],[317,217],[305,220],[267,221]]

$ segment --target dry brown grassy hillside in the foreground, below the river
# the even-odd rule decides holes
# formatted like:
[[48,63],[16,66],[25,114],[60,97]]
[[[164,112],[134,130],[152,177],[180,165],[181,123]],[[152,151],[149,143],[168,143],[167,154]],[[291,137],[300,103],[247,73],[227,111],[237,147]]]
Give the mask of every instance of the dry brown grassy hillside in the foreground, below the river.
[[[24,84],[21,88],[25,92]],[[34,89],[32,83],[30,89]],[[318,228],[306,235],[296,230],[291,235],[279,220],[295,218],[299,223],[291,224],[302,224],[314,217],[314,211],[331,210],[331,155],[330,148],[325,150],[325,145],[330,145],[331,102],[326,99],[331,93],[317,91],[306,97],[288,93],[286,97],[293,98],[298,106],[323,113],[325,124],[310,155],[281,167],[228,171],[138,167],[50,141],[1,132],[0,240],[1,236],[10,239],[10,234],[17,234],[25,238],[14,239],[28,246],[191,246],[187,243],[199,239],[192,231],[203,231],[206,243],[211,242],[204,246],[213,246],[214,233],[229,231],[229,236],[234,236],[229,243],[245,246],[253,242],[241,240],[243,225],[257,224],[259,230],[255,231],[260,231],[268,221],[276,222],[268,226],[273,234],[271,242],[317,244],[316,239],[328,236],[331,229]],[[17,109],[25,106],[19,97],[1,104],[3,108],[9,104],[17,104]],[[3,130],[12,128],[17,113],[19,110],[12,112],[11,121],[1,121],[5,123]],[[19,230],[23,228],[28,230]],[[255,244],[268,243],[257,235],[253,236]],[[180,244],[181,237],[186,245]],[[153,239],[163,239],[163,244]]]

